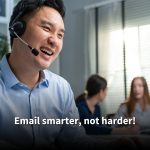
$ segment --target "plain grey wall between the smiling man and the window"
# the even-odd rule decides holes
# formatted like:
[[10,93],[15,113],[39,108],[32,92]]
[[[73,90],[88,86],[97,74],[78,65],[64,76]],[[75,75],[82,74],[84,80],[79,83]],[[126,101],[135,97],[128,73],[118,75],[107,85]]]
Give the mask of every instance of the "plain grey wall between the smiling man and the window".
[[64,0],[66,6],[65,38],[60,55],[60,74],[69,81],[75,96],[85,85],[84,7],[101,0]]

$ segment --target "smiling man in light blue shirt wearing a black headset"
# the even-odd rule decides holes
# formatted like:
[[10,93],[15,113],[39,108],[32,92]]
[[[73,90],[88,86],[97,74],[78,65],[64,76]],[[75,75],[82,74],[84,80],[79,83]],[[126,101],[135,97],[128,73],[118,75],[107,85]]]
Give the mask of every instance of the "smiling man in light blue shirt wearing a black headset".
[[14,8],[9,24],[12,51],[0,63],[3,147],[97,146],[86,142],[78,124],[42,124],[44,119],[78,118],[69,84],[46,70],[62,49],[64,15],[61,0],[21,0]]

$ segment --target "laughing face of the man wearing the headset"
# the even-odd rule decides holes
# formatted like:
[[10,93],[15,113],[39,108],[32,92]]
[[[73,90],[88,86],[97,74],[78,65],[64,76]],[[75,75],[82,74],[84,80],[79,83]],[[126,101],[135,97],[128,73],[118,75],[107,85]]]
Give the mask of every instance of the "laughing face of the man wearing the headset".
[[27,26],[22,38],[39,51],[38,56],[34,56],[30,51],[27,55],[37,69],[48,68],[62,49],[63,19],[55,9],[42,7],[31,18],[25,20]]

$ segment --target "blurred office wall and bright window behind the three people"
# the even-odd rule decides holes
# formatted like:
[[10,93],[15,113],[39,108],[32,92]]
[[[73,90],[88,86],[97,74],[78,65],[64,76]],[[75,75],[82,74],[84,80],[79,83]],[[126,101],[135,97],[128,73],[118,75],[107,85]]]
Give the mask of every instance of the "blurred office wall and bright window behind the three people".
[[[19,0],[0,0],[0,35]],[[65,38],[50,70],[64,77],[75,97],[91,74],[108,81],[103,115],[115,113],[128,97],[131,80],[144,76],[150,88],[150,0],[64,0]],[[10,50],[9,50],[10,51]]]

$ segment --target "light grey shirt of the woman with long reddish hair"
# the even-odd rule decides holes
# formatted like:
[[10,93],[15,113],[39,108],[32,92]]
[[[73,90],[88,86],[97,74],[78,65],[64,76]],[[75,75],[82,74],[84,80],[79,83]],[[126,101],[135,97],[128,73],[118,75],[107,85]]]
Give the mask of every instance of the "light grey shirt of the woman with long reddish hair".
[[[114,118],[119,119],[120,117],[128,118],[127,106],[126,104],[122,104]],[[136,123],[140,126],[140,130],[150,129],[150,105],[147,105],[145,110],[143,111],[138,103],[135,105],[135,110],[132,113],[131,117],[135,117]],[[119,125],[114,125],[118,127]]]

